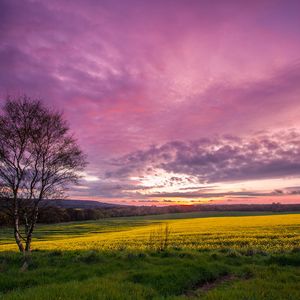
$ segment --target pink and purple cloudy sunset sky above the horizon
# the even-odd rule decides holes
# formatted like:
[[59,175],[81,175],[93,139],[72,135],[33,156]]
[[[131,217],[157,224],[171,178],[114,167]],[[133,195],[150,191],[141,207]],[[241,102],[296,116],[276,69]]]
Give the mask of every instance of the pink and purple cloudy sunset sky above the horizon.
[[300,1],[0,0],[0,103],[63,111],[73,199],[300,203]]

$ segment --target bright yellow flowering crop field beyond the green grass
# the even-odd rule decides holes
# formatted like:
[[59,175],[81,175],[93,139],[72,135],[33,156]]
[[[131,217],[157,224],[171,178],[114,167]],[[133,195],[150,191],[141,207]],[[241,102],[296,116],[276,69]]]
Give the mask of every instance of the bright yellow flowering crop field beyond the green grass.
[[[174,218],[176,217],[176,219]],[[192,217],[191,217],[192,216]],[[42,225],[33,249],[39,250],[144,250],[151,234],[162,239],[168,226],[168,247],[174,249],[290,251],[300,247],[300,214],[208,217],[197,214],[114,218],[100,221]],[[6,231],[1,251],[16,246]]]

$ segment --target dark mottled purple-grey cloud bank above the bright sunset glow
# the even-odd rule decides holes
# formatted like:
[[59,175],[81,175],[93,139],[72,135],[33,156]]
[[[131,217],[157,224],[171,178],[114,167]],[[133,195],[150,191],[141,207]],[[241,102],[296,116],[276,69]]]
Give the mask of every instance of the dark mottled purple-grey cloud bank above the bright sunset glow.
[[202,184],[300,176],[300,134],[285,131],[239,138],[220,136],[169,142],[114,161],[114,175],[138,176],[148,170],[186,174]]

